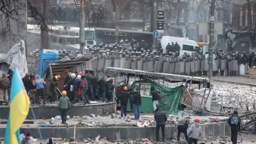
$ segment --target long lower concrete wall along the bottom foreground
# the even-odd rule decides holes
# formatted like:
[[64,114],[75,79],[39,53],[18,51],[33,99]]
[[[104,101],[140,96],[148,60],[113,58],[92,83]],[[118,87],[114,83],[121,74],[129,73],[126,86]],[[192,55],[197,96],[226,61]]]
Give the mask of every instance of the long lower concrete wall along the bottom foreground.
[[[205,123],[202,127],[202,138],[209,136],[229,136],[230,128],[227,122],[221,123]],[[155,139],[155,128],[138,128],[138,127],[122,127],[122,128],[76,128],[76,139],[95,139],[98,135],[101,138],[106,137],[110,140],[115,139],[138,139],[147,138]],[[74,136],[74,128],[40,128],[43,138],[58,137],[69,139]],[[0,137],[4,136],[5,128],[0,128]],[[34,138],[40,138],[37,128],[21,128],[21,133],[32,133]],[[160,132],[161,133],[161,132]],[[175,138],[177,136],[176,126],[165,127],[165,139]],[[184,135],[181,134],[184,139]]]

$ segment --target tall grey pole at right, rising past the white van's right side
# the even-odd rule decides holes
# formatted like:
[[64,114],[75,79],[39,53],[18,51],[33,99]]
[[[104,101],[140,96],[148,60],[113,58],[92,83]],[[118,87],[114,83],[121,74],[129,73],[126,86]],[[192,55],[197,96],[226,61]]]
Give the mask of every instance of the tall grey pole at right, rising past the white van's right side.
[[214,9],[215,9],[215,0],[211,0],[210,7],[210,25],[209,25],[209,34],[210,34],[210,43],[209,43],[209,75],[208,78],[212,79],[213,77],[213,40],[214,40]]

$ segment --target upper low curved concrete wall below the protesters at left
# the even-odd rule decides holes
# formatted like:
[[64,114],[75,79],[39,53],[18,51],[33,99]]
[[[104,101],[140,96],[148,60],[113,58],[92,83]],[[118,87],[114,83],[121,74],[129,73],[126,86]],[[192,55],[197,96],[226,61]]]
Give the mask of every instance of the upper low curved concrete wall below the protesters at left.
[[[51,118],[55,117],[56,115],[60,115],[60,112],[57,107],[32,107],[33,111],[35,112],[36,117],[39,118]],[[111,113],[116,112],[116,103],[105,103],[105,104],[91,104],[91,105],[84,105],[84,106],[73,106],[70,107],[67,114],[72,117],[75,115],[109,115]],[[9,115],[9,107],[0,107],[0,118],[7,119]],[[33,117],[31,109],[29,109],[29,114],[27,116]]]

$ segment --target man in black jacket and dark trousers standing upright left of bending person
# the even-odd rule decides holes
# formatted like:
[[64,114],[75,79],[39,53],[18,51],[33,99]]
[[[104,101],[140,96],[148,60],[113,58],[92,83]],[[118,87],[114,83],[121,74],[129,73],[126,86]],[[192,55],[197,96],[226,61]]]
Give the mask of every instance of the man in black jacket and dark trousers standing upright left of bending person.
[[157,142],[159,142],[160,138],[159,138],[159,130],[161,128],[162,131],[162,142],[165,142],[165,122],[167,121],[167,116],[165,115],[164,112],[161,112],[158,108],[155,110],[155,121],[157,124],[156,127],[156,138],[157,138]]

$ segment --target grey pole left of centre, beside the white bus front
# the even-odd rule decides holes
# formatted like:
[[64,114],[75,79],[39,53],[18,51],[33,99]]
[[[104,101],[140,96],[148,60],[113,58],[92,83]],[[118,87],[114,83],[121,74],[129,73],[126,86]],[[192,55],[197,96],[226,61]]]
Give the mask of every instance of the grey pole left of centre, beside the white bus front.
[[80,1],[80,53],[85,55],[85,1]]

